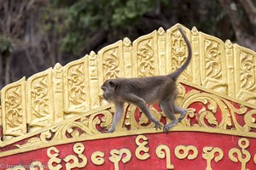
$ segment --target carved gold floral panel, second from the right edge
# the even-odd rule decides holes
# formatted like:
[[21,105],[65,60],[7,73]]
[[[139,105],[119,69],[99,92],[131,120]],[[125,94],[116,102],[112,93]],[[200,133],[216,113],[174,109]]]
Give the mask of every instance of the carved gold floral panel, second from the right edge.
[[224,57],[224,42],[201,33],[201,82],[220,94],[228,94]]

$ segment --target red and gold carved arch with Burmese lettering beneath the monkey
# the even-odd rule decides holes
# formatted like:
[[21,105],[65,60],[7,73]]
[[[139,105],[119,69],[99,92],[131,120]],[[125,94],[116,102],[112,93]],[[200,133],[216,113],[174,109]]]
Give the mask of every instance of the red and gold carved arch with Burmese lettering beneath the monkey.
[[[113,133],[113,105],[102,82],[165,75],[187,57],[176,26],[124,38],[84,58],[1,90],[0,169],[256,169],[256,53],[227,40],[183,30],[193,48],[177,82],[188,110],[166,134],[135,105]],[[150,110],[168,122],[157,104]]]

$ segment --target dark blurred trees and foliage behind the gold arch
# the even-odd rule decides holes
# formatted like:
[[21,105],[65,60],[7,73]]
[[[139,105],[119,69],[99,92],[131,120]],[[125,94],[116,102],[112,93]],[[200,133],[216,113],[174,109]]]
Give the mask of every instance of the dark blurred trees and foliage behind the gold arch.
[[176,23],[256,51],[256,0],[0,0],[0,88]]

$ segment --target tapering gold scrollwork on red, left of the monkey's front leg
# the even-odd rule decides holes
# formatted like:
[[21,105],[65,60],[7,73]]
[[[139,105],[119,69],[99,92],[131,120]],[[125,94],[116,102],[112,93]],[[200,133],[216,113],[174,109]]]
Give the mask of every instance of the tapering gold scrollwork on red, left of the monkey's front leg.
[[28,139],[26,144],[15,144],[17,148],[31,145],[51,143],[58,140],[87,138],[104,132],[113,120],[113,108],[106,111],[96,111],[79,119],[67,120],[66,123],[44,130],[38,137]]

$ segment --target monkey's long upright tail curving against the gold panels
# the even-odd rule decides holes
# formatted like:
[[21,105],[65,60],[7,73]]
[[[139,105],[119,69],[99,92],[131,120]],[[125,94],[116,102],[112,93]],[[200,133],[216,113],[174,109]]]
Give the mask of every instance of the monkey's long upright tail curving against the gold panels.
[[172,74],[168,75],[174,81],[177,81],[177,77],[179,77],[179,75],[187,68],[187,66],[189,65],[190,60],[192,58],[192,49],[191,49],[191,45],[190,45],[188,37],[185,35],[185,33],[183,32],[183,29],[181,27],[178,28],[178,31],[180,31],[181,35],[183,36],[184,41],[187,44],[189,54],[188,54],[188,58],[186,59],[184,64],[181,65],[176,71],[172,72]]

